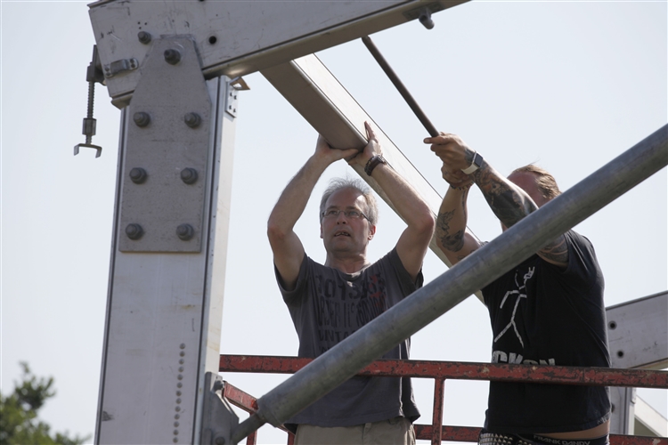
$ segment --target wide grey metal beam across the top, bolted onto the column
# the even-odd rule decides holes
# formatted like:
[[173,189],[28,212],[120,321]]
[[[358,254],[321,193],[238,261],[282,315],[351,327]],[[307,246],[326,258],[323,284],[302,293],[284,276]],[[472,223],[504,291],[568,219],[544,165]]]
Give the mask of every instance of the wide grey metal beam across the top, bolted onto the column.
[[189,36],[206,78],[237,77],[466,1],[102,0],[90,4],[90,17],[112,102],[120,107],[141,77],[151,47],[147,35]]

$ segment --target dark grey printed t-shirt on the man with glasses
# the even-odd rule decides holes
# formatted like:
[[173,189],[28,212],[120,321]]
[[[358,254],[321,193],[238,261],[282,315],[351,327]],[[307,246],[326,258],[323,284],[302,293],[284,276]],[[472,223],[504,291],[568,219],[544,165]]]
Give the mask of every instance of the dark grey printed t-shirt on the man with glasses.
[[[275,268],[274,268],[275,269]],[[315,358],[350,336],[422,286],[422,272],[413,282],[393,249],[356,273],[315,263],[304,255],[297,285],[287,291],[276,279],[299,337],[299,357]],[[383,359],[407,360],[411,339]],[[408,377],[354,376],[292,417],[286,425],[351,426],[403,416],[420,417]]]

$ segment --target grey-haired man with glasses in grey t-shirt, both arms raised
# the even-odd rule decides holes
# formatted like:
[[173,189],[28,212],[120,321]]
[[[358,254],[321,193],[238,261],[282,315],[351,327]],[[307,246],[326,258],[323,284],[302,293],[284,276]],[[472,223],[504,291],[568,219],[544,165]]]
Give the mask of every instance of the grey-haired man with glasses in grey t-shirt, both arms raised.
[[[314,155],[283,190],[269,216],[267,234],[276,279],[299,337],[299,357],[315,358],[350,336],[422,286],[422,261],[434,231],[427,204],[382,157],[365,123],[363,151],[334,150],[320,136]],[[325,169],[339,159],[364,167],[387,193],[407,227],[396,247],[376,263],[367,245],[376,233],[378,207],[371,190],[357,180],[338,179],[321,206],[324,265],[305,254],[293,231]],[[408,359],[410,339],[386,359]],[[297,445],[415,443],[412,421],[420,416],[410,378],[355,376],[304,409],[287,425],[297,427]]]

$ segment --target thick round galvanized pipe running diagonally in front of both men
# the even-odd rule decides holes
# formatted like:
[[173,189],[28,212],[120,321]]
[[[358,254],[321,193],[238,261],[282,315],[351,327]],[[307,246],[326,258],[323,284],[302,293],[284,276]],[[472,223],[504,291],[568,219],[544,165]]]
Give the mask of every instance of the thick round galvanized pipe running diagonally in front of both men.
[[[268,422],[293,417],[371,361],[436,320],[615,198],[668,164],[668,125],[468,255],[261,397],[256,415],[232,434],[237,443]],[[254,418],[256,417],[256,418]]]

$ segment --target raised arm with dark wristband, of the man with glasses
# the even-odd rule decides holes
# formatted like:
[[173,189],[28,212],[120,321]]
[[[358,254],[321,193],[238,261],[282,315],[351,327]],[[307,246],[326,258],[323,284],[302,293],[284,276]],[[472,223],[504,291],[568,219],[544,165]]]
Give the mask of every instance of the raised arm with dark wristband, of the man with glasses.
[[[371,125],[365,122],[364,126],[366,127],[369,143],[359,155],[349,161],[351,165],[367,166],[370,159],[371,165],[374,165],[375,162],[372,158],[382,154]],[[396,212],[401,215],[403,221],[407,224],[406,229],[396,243],[396,252],[403,263],[403,267],[411,274],[413,279],[416,279],[422,268],[425,255],[427,255],[429,241],[434,234],[434,216],[427,203],[411,187],[411,184],[397,174],[391,166],[384,163],[375,164],[371,170],[371,177],[385,191],[387,198],[395,206]]]

